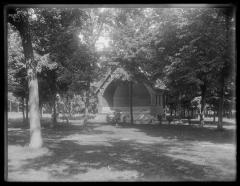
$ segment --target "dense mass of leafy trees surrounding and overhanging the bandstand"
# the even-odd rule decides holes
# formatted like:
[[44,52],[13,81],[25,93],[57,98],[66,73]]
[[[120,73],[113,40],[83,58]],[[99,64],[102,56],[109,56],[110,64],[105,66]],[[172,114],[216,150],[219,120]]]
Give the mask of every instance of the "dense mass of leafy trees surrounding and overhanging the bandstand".
[[[52,107],[56,123],[57,94],[66,100],[81,95],[86,122],[89,97],[94,97],[92,83],[108,68],[106,61],[120,62],[132,74],[131,81],[141,79],[154,86],[161,79],[171,96],[171,113],[193,113],[194,98],[200,96],[202,126],[207,105],[218,112],[218,128],[223,111],[231,109],[232,9],[10,8],[8,22],[9,90],[25,100],[31,97],[33,131],[40,126],[38,104]],[[103,36],[109,48],[99,51],[96,46]]]

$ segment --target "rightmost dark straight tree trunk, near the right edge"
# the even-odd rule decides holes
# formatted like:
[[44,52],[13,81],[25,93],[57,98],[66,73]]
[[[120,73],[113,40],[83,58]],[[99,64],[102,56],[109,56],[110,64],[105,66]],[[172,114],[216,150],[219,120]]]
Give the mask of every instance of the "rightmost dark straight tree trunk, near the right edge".
[[217,128],[218,129],[222,129],[223,128],[223,100],[224,100],[224,77],[221,77],[221,81],[220,81],[220,100],[219,100],[219,107],[218,107],[218,125]]

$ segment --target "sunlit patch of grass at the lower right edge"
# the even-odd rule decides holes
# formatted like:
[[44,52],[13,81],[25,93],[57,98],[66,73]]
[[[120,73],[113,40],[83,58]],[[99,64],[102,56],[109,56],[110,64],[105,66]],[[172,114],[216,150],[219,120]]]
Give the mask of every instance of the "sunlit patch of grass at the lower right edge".
[[174,159],[190,161],[196,165],[211,166],[220,176],[234,178],[236,174],[235,152],[236,147],[233,144],[189,142],[189,144],[170,147],[166,155]]

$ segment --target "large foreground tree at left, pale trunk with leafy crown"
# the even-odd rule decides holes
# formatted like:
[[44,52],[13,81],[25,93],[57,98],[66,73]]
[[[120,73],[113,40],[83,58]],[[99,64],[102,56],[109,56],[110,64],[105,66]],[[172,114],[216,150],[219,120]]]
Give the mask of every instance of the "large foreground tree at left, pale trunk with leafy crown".
[[[51,22],[52,15],[49,16],[49,12],[55,15],[55,17],[53,16],[55,21],[59,21]],[[23,65],[25,65],[27,69],[30,105],[30,147],[39,148],[42,146],[37,73],[41,72],[43,66],[52,65],[51,63],[49,64],[49,62],[54,62],[54,60],[53,58],[49,60],[48,54],[50,52],[52,54],[53,49],[56,49],[56,46],[53,46],[56,45],[56,42],[49,43],[49,41],[46,41],[46,39],[53,39],[53,34],[56,33],[60,34],[61,37],[61,34],[63,33],[67,34],[69,31],[72,33],[76,32],[77,29],[79,29],[79,24],[81,24],[82,21],[81,15],[82,11],[78,9],[68,11],[60,11],[55,9],[52,9],[52,11],[47,11],[43,9],[40,10],[28,8],[8,9],[8,21],[19,31],[22,40],[21,43],[24,53]],[[48,24],[45,24],[46,20],[49,21]],[[67,29],[64,29],[64,27]],[[52,32],[49,32],[50,30]],[[46,31],[47,34],[41,35],[46,33],[44,31]],[[47,35],[50,35],[49,38],[45,37]],[[55,41],[59,42],[59,40]],[[36,49],[35,51],[37,52],[37,55],[41,55],[39,56],[40,60],[34,59],[33,47]]]

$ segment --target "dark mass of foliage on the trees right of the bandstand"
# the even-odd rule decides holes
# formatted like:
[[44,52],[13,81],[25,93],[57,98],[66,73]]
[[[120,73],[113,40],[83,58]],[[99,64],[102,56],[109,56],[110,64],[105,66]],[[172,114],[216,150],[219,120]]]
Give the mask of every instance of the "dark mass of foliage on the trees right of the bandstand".
[[[187,19],[187,24],[178,30],[176,40],[181,47],[177,48],[171,63],[165,67],[170,91],[184,94],[188,90],[192,98],[201,95],[201,110],[206,104],[205,97],[214,108],[218,107],[216,96],[219,97],[219,93],[216,93],[219,91],[216,89],[220,88],[219,80],[233,75],[230,70],[233,60],[228,50],[232,45],[228,37],[232,36],[227,31],[226,17],[220,14],[221,9],[213,8],[184,10],[182,16]],[[215,94],[212,95],[212,92]]]

